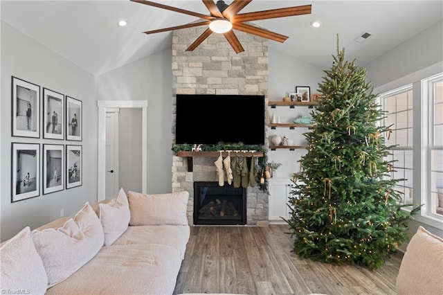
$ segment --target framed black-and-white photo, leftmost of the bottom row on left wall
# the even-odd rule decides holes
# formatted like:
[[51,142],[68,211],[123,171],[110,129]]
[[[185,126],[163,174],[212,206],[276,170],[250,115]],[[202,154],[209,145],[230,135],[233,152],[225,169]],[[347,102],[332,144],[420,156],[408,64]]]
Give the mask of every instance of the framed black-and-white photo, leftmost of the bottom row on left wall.
[[40,145],[12,143],[11,202],[40,195]]

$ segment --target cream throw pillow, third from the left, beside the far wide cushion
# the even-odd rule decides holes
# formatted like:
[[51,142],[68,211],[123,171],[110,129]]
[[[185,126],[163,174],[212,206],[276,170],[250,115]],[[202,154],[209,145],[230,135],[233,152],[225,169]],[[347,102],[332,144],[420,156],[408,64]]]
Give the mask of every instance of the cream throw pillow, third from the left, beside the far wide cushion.
[[105,246],[109,246],[122,235],[129,226],[131,213],[125,190],[120,188],[116,199],[109,204],[99,204],[100,222],[105,233]]

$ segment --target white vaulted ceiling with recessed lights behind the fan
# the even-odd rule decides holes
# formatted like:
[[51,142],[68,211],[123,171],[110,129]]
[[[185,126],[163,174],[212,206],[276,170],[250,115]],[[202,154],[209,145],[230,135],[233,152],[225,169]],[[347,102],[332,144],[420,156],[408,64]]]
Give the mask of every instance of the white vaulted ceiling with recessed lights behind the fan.
[[[157,1],[168,6],[208,14],[199,0]],[[226,0],[229,4],[231,1]],[[348,60],[365,65],[413,35],[442,21],[443,1],[271,1],[253,0],[242,12],[311,4],[311,15],[253,21],[267,30],[289,36],[269,41],[277,51],[328,69],[336,53],[336,36]],[[1,20],[36,39],[67,60],[98,75],[169,48],[172,33],[145,35],[146,30],[179,26],[196,17],[150,7],[129,0],[6,1]],[[120,19],[127,26],[117,25]],[[313,28],[311,21],[322,26]],[[363,43],[354,39],[371,36]],[[192,41],[190,40],[190,43]],[[424,44],[428,46],[429,44]],[[241,54],[241,53],[240,53]]]

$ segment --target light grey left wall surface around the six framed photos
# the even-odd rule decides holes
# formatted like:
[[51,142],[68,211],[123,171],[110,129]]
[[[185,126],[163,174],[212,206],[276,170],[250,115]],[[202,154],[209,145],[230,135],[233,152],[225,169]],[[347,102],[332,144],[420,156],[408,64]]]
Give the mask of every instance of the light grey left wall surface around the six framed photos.
[[[64,93],[83,102],[83,141],[57,141],[11,136],[11,76]],[[96,102],[94,77],[60,55],[1,22],[1,101],[0,101],[0,195],[1,241],[11,238],[25,226],[31,229],[65,215],[77,213],[85,202],[96,202]],[[42,103],[40,105],[42,111]],[[87,126],[87,127],[86,127]],[[40,128],[43,129],[42,127]],[[11,143],[83,145],[82,186],[11,203]],[[42,157],[40,158],[42,159]],[[40,166],[41,168],[42,166]],[[42,190],[42,188],[40,189]]]

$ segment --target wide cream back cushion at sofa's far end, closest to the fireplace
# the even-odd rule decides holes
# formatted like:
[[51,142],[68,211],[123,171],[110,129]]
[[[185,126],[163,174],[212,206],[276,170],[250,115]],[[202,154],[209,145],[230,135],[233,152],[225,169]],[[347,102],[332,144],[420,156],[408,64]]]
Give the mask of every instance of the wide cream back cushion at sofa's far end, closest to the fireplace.
[[188,225],[187,191],[157,195],[129,191],[127,198],[131,211],[129,225]]

